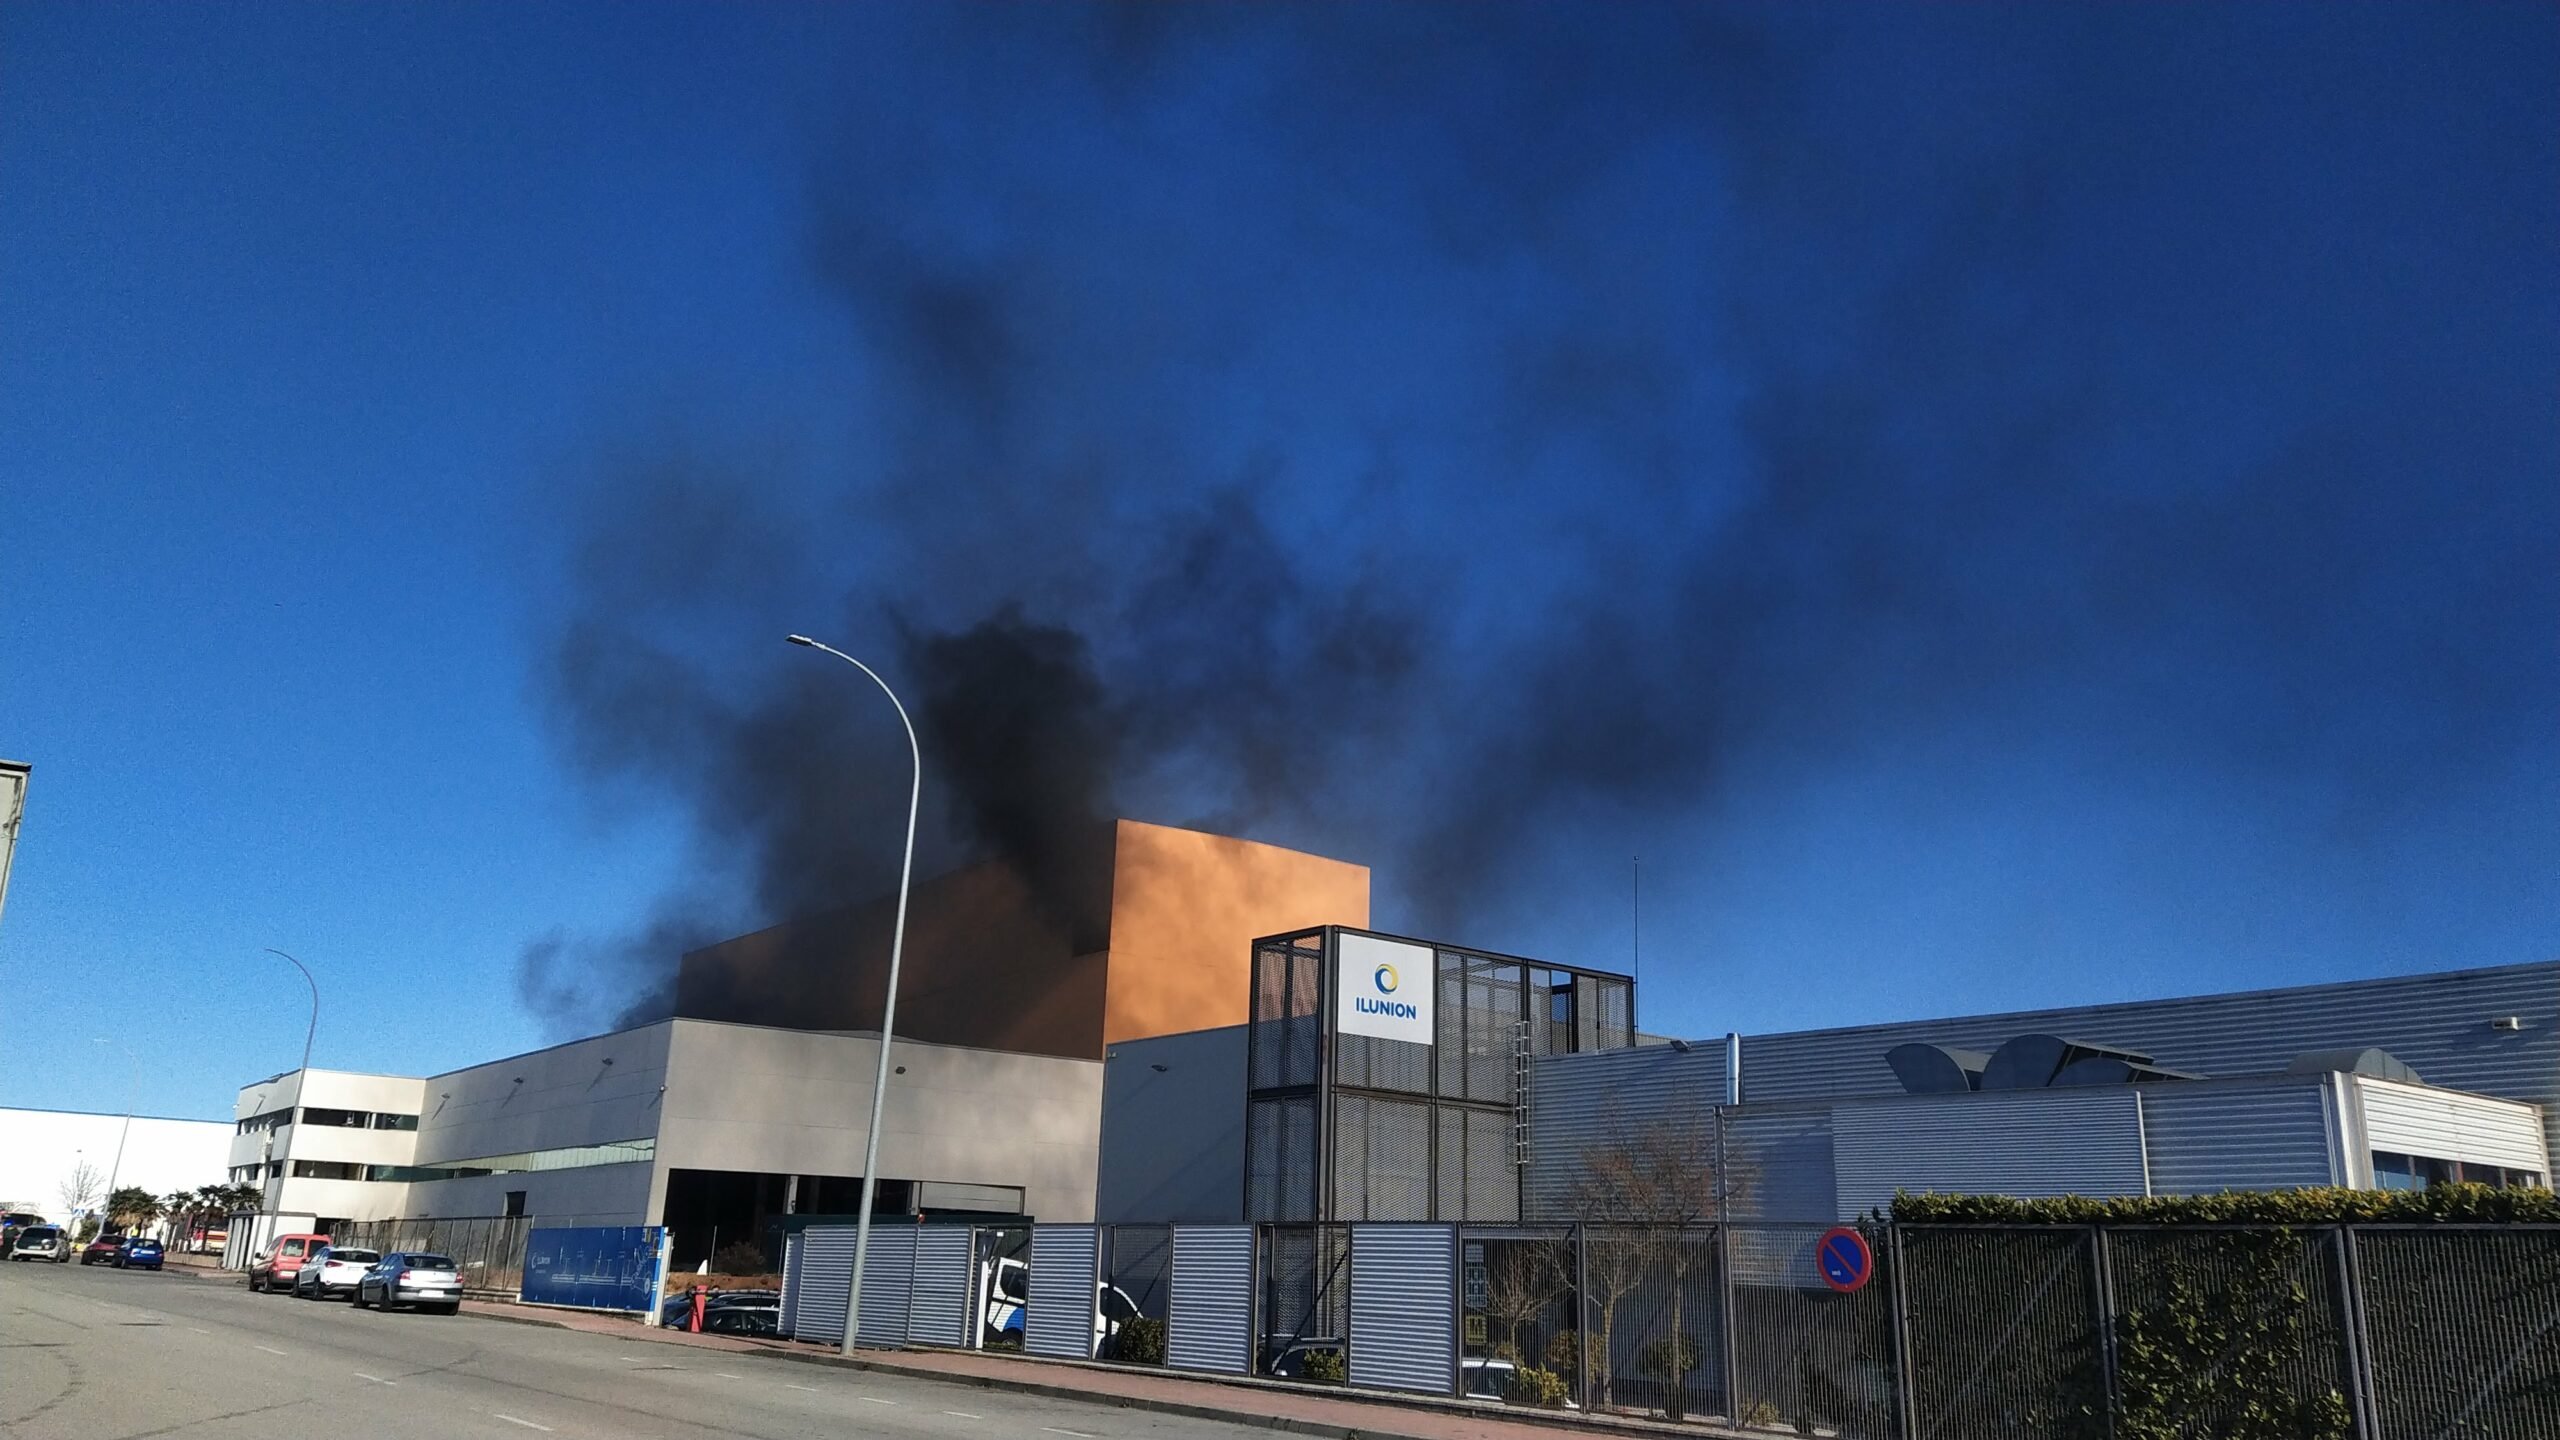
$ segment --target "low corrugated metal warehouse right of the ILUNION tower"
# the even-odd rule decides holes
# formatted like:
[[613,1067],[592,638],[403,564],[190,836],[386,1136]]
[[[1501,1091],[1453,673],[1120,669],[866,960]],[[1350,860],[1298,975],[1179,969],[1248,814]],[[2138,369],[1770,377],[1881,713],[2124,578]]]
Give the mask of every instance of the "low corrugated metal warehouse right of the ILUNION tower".
[[2560,963],[1800,1030],[1533,1068],[1523,1215],[1672,1130],[1738,1220],[2015,1197],[2550,1184]]

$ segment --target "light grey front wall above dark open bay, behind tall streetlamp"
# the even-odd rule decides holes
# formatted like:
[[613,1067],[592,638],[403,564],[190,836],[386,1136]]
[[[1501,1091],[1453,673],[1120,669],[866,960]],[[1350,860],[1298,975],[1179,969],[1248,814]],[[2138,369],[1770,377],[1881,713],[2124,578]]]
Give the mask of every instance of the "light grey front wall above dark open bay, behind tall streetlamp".
[[[676,1168],[863,1174],[876,1038],[668,1025],[650,1215]],[[1093,1220],[1098,1061],[899,1040],[891,1066],[881,1179],[1019,1186],[1039,1220]]]

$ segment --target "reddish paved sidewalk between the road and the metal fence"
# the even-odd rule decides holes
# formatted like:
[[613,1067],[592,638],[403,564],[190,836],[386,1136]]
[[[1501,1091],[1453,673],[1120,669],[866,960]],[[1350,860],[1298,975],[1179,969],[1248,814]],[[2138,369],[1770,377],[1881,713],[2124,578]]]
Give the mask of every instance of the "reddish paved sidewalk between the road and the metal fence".
[[978,1389],[1121,1404],[1190,1420],[1224,1420],[1288,1435],[1324,1440],[1556,1440],[1559,1435],[1644,1437],[1746,1437],[1784,1435],[1777,1430],[1723,1430],[1710,1425],[1672,1425],[1664,1420],[1587,1417],[1577,1412],[1521,1412],[1490,1402],[1431,1396],[1385,1396],[1370,1391],[1318,1389],[1298,1381],[1244,1376],[1188,1376],[1157,1368],[1103,1366],[1088,1361],[1042,1361],[993,1355],[983,1350],[863,1350],[847,1361],[824,1345],[794,1340],[748,1340],[737,1335],[686,1335],[655,1330],[617,1314],[550,1309],[540,1304],[471,1302],[471,1314],[517,1325],[553,1325],[625,1343],[689,1345],[701,1350],[763,1350],[781,1361],[883,1371]]

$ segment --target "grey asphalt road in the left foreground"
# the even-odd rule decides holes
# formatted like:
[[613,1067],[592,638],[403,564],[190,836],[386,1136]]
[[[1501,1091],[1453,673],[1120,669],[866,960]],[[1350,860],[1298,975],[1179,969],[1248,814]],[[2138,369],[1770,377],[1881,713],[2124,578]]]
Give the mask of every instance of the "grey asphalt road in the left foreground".
[[863,1435],[1270,1440],[1219,1425],[228,1281],[0,1263],[0,1435],[23,1440]]

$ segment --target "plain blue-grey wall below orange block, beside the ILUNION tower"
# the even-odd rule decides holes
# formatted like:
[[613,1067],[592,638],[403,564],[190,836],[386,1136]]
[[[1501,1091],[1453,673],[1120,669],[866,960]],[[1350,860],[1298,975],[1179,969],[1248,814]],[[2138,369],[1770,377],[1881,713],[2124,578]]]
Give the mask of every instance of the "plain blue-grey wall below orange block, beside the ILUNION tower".
[[1244,1025],[1111,1045],[1093,1217],[1244,1220]]

